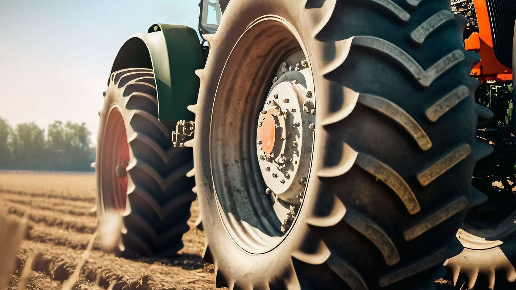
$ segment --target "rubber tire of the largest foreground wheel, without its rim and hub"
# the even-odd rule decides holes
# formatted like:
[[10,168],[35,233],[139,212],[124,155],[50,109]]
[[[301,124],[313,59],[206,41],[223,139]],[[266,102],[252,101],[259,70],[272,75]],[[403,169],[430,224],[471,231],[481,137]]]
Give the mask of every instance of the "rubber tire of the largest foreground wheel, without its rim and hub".
[[[224,69],[235,90],[255,85],[247,74],[240,77],[253,66],[276,69],[265,55],[238,58],[243,69],[231,73],[240,36],[264,15],[291,23],[307,47],[318,112],[303,207],[281,244],[251,254],[221,221],[211,168],[221,156],[212,156],[210,138],[214,103],[219,93],[230,94],[219,89],[229,82]],[[443,262],[462,251],[455,234],[468,208],[484,199],[471,176],[476,161],[491,152],[475,139],[481,108],[472,98],[478,81],[469,73],[479,56],[463,49],[465,25],[451,13],[449,0],[229,3],[217,33],[205,37],[211,51],[197,72],[192,142],[204,258],[215,264],[218,287],[435,287]],[[267,42],[246,39],[249,55]],[[260,111],[251,108],[241,114],[257,119]],[[239,134],[238,126],[228,124],[228,134]]]

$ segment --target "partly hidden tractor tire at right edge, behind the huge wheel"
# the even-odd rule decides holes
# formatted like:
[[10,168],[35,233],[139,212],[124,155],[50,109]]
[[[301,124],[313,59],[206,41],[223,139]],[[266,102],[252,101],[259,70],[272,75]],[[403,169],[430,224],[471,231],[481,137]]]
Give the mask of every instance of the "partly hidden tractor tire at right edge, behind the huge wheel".
[[495,142],[493,155],[480,160],[473,174],[487,201],[467,213],[457,232],[464,250],[445,262],[454,285],[469,289],[516,288],[516,156]]

